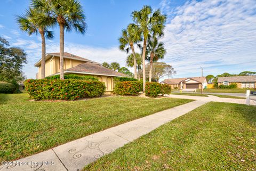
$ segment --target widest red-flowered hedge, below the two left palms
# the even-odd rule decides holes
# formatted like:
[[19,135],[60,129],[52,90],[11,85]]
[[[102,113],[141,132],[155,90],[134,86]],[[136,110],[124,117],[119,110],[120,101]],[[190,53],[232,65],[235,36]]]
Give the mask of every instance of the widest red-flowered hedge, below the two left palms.
[[103,82],[78,79],[27,79],[25,88],[35,100],[75,100],[84,97],[98,97],[104,94]]

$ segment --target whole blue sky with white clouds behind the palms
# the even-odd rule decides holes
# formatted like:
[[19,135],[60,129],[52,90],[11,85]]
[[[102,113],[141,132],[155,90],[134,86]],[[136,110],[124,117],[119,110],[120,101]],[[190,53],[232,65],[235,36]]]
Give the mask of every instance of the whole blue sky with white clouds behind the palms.
[[[28,8],[30,0],[1,0],[0,36],[11,46],[28,54],[23,67],[27,78],[35,78],[34,67],[41,58],[41,38],[19,30],[15,15]],[[125,66],[127,54],[118,50],[118,37],[129,23],[131,13],[150,5],[167,15],[166,48],[162,60],[173,66],[173,78],[239,74],[256,71],[256,2],[255,0],[81,0],[86,16],[85,35],[65,32],[65,52],[97,62],[119,62]],[[59,30],[52,29],[53,40],[46,40],[46,53],[59,52]],[[137,50],[138,51],[138,50]],[[139,52],[139,51],[138,51]],[[132,68],[129,68],[133,71]]]

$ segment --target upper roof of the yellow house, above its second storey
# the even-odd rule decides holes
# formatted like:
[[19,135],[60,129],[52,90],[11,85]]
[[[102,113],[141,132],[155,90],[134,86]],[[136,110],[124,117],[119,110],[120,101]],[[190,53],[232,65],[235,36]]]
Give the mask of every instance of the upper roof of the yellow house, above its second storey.
[[[58,56],[58,57],[59,57],[59,56],[60,56],[60,53],[47,53],[47,54],[45,55],[45,60],[50,59],[52,56]],[[65,58],[65,59],[74,59],[74,60],[85,61],[85,62],[92,62],[92,63],[101,65],[101,64],[98,63],[98,62],[94,62],[94,61],[91,61],[91,60],[89,60],[89,59],[85,59],[85,58],[82,58],[81,56],[77,56],[77,55],[74,55],[74,54],[71,54],[71,53],[68,53],[68,52],[64,52],[63,58]],[[40,59],[39,61],[37,61],[37,62],[35,63],[35,67],[41,66],[41,60],[42,60],[42,59]]]

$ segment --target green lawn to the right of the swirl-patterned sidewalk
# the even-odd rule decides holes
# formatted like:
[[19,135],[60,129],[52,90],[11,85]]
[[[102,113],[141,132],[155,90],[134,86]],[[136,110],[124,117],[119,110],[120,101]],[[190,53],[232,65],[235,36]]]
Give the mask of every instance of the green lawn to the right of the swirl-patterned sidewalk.
[[210,102],[84,170],[254,170],[256,107]]

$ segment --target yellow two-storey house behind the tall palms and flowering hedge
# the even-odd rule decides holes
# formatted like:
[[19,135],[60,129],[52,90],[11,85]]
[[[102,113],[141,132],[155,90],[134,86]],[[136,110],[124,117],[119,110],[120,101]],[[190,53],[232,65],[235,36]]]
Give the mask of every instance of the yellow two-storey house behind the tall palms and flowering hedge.
[[[127,77],[127,75],[102,67],[100,63],[94,62],[80,56],[65,52],[63,55],[64,74],[90,75],[97,77],[106,84],[106,93],[113,91],[114,77]],[[41,60],[35,63],[38,67],[36,78],[41,78]],[[45,77],[60,74],[60,53],[47,53],[45,56]]]

